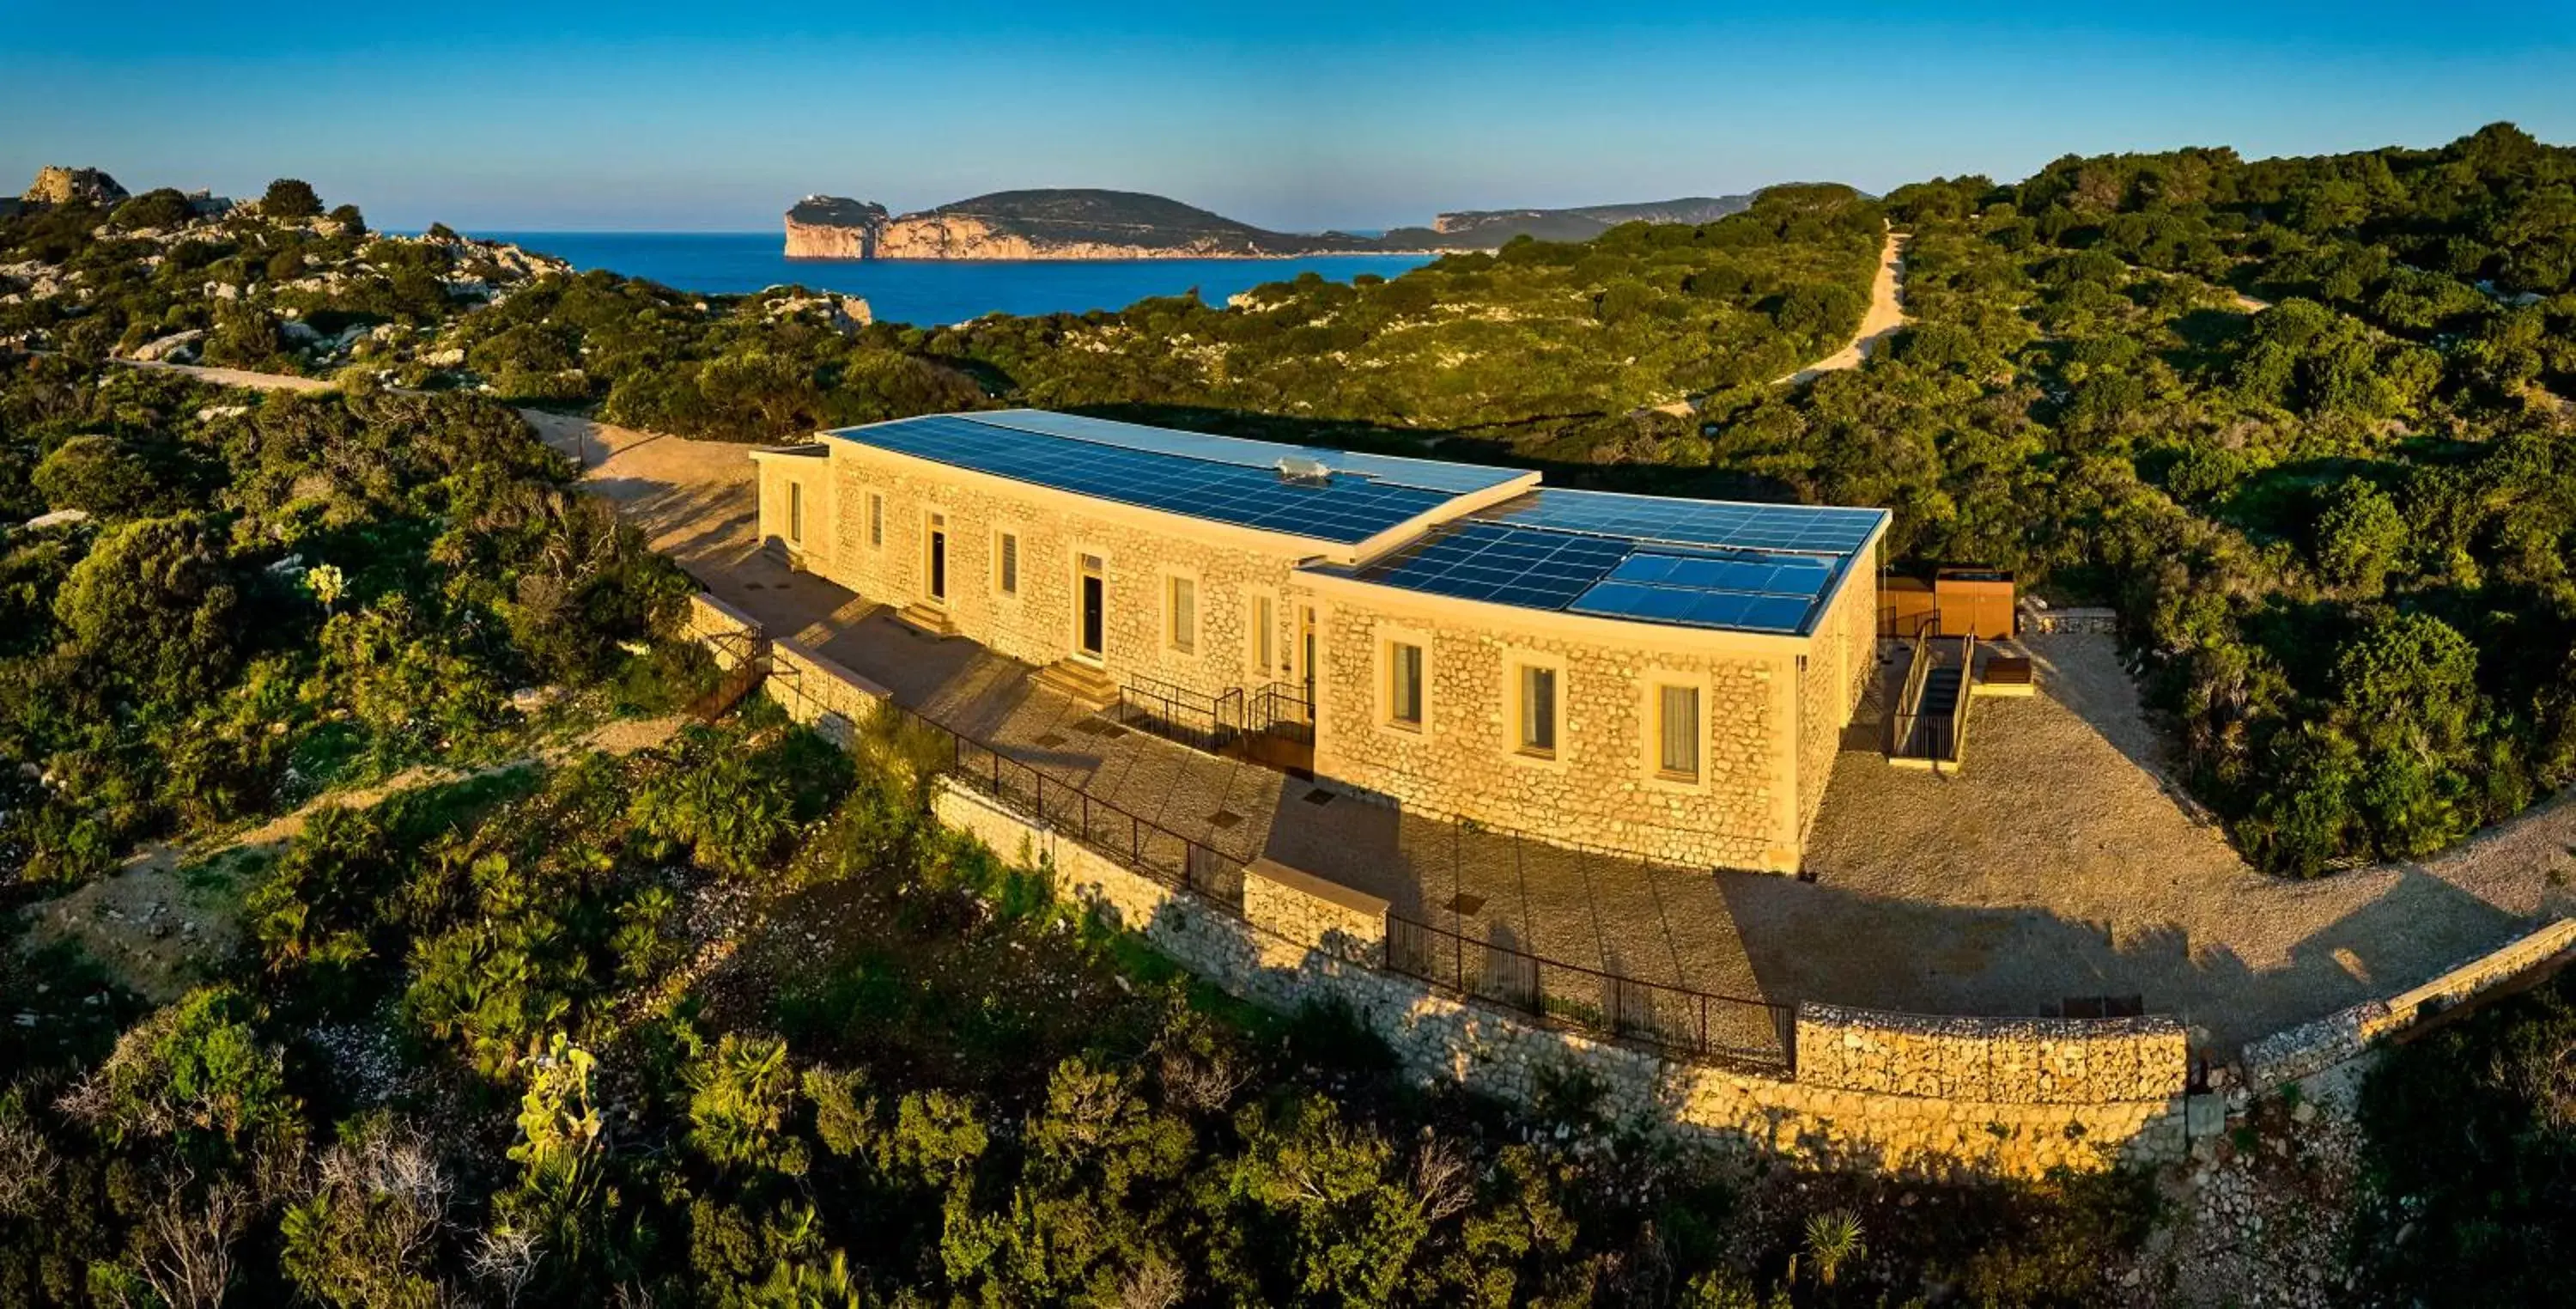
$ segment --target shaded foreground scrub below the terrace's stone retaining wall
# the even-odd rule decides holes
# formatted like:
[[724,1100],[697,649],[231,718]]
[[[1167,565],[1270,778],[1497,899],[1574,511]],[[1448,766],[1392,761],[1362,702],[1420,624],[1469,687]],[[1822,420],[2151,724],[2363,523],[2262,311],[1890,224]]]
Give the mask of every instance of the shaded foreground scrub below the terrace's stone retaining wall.
[[752,701],[319,812],[170,1000],[13,964],[0,1299],[2089,1304],[2143,1237],[2128,1178],[1754,1172],[1574,1077],[1419,1090],[943,832],[920,758]]

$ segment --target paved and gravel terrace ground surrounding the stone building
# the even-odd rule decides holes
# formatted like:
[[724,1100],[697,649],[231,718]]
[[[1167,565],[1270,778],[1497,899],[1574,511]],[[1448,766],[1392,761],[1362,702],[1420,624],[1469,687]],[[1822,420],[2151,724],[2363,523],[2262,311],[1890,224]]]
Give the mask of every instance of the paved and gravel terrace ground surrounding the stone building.
[[1886,765],[1873,693],[1811,837],[1814,881],[1577,855],[1347,796],[1311,804],[1309,783],[1260,765],[1100,734],[1025,665],[922,636],[760,557],[742,446],[531,420],[567,454],[580,446],[595,492],[773,636],[1236,861],[1270,855],[1564,964],[1914,1013],[2056,1013],[2069,997],[2138,995],[2231,1054],[2576,912],[2566,799],[2424,863],[2308,884],[2257,874],[2172,799],[2102,636],[2030,639],[2043,693],[1978,698],[1968,765],[1953,776]]

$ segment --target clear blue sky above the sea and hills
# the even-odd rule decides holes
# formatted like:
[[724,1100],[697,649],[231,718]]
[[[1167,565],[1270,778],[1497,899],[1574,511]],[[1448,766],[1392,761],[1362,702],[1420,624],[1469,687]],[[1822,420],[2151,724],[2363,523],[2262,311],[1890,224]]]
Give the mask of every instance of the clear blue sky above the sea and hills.
[[2571,0],[0,0],[0,186],[44,162],[234,196],[299,175],[384,227],[747,232],[809,191],[1015,186],[1388,227],[2496,119],[2576,142]]

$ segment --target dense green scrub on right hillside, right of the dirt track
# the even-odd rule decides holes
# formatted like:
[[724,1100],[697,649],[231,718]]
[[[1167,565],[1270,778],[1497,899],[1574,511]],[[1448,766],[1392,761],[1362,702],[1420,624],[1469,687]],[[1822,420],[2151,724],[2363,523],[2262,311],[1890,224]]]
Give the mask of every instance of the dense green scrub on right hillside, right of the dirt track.
[[2512,126],[1906,186],[1888,358],[1600,451],[2115,603],[2254,861],[2421,855],[2576,781],[2571,196]]

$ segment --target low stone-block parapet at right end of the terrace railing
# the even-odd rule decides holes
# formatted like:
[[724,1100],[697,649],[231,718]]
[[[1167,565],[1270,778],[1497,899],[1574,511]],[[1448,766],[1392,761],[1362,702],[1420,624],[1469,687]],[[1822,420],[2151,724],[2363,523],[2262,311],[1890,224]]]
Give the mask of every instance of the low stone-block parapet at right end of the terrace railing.
[[1976,1100],[2166,1103],[2190,1041],[2172,1018],[1927,1018],[1798,1005],[1798,1080],[1819,1087]]

